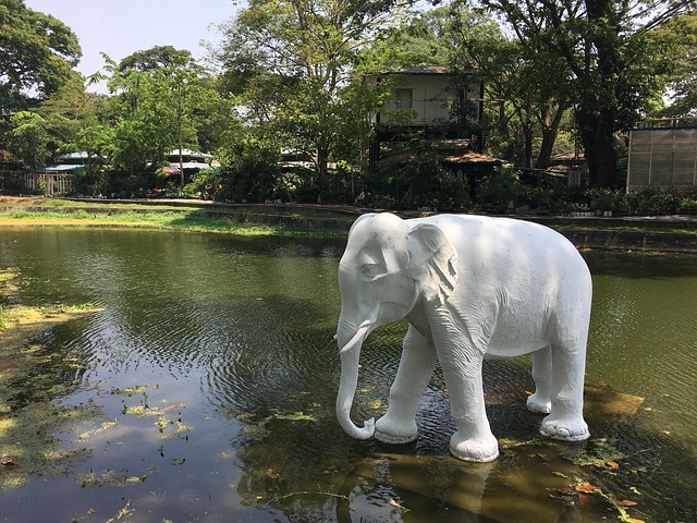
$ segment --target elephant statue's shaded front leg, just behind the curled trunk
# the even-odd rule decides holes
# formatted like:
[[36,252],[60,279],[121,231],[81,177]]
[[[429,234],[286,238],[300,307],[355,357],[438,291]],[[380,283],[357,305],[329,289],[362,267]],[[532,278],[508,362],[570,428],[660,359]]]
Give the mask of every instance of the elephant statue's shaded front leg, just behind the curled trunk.
[[390,388],[388,412],[376,423],[376,439],[407,443],[416,439],[416,410],[436,366],[432,341],[413,326],[404,338],[402,360]]

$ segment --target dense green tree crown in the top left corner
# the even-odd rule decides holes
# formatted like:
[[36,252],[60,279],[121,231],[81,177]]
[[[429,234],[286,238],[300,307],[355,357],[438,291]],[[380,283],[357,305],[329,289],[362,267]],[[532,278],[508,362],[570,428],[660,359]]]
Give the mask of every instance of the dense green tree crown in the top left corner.
[[33,98],[56,93],[82,57],[75,34],[23,0],[0,0],[0,108],[26,109]]

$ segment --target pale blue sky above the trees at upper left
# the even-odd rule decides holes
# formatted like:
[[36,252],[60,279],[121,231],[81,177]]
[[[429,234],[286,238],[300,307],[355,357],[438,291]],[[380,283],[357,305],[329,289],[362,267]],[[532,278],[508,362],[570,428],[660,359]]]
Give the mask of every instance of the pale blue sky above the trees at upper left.
[[77,71],[88,76],[101,70],[101,52],[119,63],[135,51],[173,46],[206,56],[199,42],[220,41],[210,27],[229,21],[234,0],[24,0],[27,8],[52,14],[68,25],[83,49]]

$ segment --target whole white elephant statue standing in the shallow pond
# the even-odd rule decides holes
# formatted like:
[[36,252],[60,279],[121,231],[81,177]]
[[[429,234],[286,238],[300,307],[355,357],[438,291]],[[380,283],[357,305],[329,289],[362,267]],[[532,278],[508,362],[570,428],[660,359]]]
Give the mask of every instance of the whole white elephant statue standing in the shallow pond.
[[[457,431],[453,455],[491,461],[498,443],[485,412],[485,354],[533,353],[529,410],[548,414],[542,435],[588,437],[583,418],[591,281],[576,248],[542,226],[503,218],[365,215],[339,266],[341,384],[337,414],[353,437],[401,443],[416,438],[415,414],[437,358]],[[384,416],[351,421],[360,346],[378,326],[409,328]]]

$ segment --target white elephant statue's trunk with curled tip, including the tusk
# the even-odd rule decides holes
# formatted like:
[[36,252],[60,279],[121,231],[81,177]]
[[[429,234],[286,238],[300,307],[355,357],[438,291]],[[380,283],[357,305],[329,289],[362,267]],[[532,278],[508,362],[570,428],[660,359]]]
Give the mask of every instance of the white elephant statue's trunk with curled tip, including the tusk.
[[369,439],[375,433],[375,419],[366,421],[363,427],[356,426],[351,421],[351,408],[358,384],[360,348],[371,326],[370,321],[364,321],[351,338],[348,338],[351,330],[343,327],[339,329],[337,335],[341,348],[341,382],[337,396],[337,417],[346,434],[356,439]]

